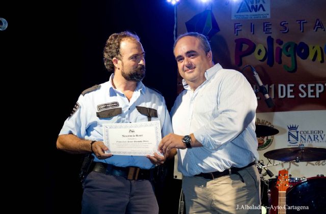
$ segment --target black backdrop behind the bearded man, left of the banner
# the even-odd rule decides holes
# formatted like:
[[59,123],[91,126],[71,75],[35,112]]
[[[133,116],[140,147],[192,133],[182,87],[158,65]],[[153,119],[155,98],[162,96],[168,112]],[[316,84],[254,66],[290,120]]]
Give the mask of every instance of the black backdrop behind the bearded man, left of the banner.
[[[12,136],[23,151],[9,159],[17,165],[3,168],[15,174],[6,178],[21,196],[15,206],[33,213],[80,213],[82,156],[56,148],[64,120],[84,89],[110,77],[102,49],[108,36],[123,30],[140,37],[143,82],[159,90],[171,109],[177,96],[174,7],[166,0],[12,1],[2,3],[0,17],[8,21],[0,31],[3,109],[11,118],[6,127],[24,127]],[[3,149],[12,154],[11,144]],[[173,179],[173,160],[166,165],[167,177],[156,185],[160,213],[177,213],[181,181]]]

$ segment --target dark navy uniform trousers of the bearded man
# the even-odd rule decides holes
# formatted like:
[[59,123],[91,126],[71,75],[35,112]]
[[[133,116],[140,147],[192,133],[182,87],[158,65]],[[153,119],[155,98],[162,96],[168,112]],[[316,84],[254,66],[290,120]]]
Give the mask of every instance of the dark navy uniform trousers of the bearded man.
[[83,186],[83,214],[158,213],[153,185],[149,179],[129,180],[92,171]]

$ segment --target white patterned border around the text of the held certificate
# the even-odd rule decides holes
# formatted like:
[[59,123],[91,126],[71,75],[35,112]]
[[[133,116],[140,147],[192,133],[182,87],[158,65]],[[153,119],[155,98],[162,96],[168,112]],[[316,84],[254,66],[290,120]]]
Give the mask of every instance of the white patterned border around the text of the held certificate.
[[[146,128],[154,127],[155,131],[155,150],[153,151],[114,151],[113,153],[110,150],[110,129],[133,129],[133,128]],[[133,156],[146,156],[153,155],[157,151],[159,142],[161,141],[161,130],[160,130],[160,121],[148,121],[140,123],[128,123],[128,124],[103,124],[103,139],[104,144],[109,148],[105,153],[112,153],[114,155],[133,155]],[[151,154],[150,154],[151,153]]]

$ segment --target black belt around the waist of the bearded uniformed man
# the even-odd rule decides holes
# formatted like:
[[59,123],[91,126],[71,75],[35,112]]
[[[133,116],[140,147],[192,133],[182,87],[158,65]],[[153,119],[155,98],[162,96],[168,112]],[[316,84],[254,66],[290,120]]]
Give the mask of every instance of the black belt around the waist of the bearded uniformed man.
[[139,167],[118,167],[112,164],[93,162],[93,171],[108,175],[122,176],[128,180],[152,179],[154,169],[141,169]]

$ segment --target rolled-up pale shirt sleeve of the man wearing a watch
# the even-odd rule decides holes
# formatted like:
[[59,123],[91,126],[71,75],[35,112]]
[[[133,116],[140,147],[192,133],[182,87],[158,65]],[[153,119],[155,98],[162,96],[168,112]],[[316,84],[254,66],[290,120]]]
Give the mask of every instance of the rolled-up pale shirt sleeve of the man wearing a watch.
[[[217,94],[216,117],[194,132],[195,138],[209,149],[236,138],[255,119],[257,100],[255,93],[240,73],[226,77]],[[210,103],[214,105],[214,101]]]

